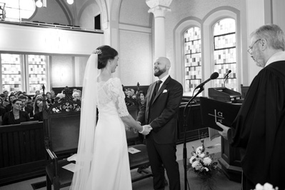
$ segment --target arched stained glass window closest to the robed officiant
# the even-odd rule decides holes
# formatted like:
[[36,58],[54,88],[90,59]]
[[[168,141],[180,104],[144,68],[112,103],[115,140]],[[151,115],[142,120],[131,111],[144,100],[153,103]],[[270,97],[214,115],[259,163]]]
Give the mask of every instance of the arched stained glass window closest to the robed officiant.
[[[224,77],[231,70],[229,79],[224,83]],[[215,87],[237,91],[236,80],[236,21],[221,19],[214,24],[214,71],[219,78],[214,80]]]

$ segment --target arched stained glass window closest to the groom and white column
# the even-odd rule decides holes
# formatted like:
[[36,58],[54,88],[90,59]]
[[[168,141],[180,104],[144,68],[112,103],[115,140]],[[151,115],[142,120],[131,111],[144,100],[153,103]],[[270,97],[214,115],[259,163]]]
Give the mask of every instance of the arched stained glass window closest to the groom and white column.
[[201,29],[191,27],[184,33],[184,91],[193,93],[201,83]]

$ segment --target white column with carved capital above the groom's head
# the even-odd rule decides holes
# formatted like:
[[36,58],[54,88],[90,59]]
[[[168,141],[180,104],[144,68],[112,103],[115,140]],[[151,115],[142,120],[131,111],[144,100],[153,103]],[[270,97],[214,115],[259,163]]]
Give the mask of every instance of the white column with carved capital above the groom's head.
[[149,13],[154,14],[154,57],[166,56],[165,15],[172,0],[146,0]]

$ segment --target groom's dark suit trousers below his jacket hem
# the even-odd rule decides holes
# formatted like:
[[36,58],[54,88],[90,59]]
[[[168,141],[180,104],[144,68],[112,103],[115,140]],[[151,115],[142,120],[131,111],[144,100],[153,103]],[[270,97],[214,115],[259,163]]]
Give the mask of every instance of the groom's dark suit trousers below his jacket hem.
[[179,164],[176,161],[176,144],[157,144],[152,134],[146,139],[154,189],[164,189],[164,168],[169,178],[169,190],[180,190]]

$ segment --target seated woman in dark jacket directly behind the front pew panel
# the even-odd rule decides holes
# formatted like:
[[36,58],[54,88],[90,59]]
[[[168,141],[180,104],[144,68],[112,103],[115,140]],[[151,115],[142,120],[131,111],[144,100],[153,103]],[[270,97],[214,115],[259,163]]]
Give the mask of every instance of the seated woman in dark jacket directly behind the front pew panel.
[[24,121],[30,121],[28,113],[21,111],[22,104],[21,99],[12,101],[12,110],[4,115],[2,125],[20,124]]

